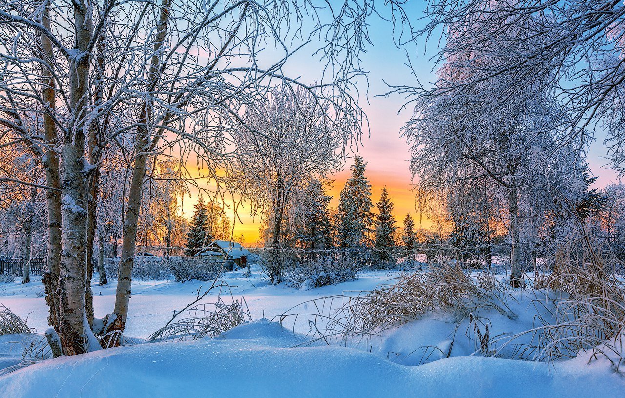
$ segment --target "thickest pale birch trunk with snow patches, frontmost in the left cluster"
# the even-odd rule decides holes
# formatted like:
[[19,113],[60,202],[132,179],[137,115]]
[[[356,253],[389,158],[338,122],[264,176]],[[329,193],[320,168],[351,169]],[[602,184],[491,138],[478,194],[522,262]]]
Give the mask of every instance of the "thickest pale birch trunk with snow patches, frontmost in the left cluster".
[[91,9],[74,2],[74,51],[69,62],[69,111],[61,151],[61,216],[63,251],[59,273],[59,339],[66,355],[83,354],[98,347],[87,321],[87,207],[89,164],[85,159],[85,121],[89,106],[89,41],[93,32]]

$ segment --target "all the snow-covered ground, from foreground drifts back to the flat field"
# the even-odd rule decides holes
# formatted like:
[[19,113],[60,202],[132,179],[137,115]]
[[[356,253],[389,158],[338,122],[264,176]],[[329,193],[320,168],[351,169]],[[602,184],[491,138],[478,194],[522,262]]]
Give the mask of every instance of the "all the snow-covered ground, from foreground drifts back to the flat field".
[[[625,377],[604,359],[582,353],[556,362],[513,361],[471,356],[476,350],[472,326],[459,326],[442,314],[382,332],[366,341],[312,345],[307,322],[293,332],[291,319],[269,322],[297,304],[336,294],[357,294],[391,283],[398,271],[366,271],[355,281],[300,291],[272,286],[259,269],[227,272],[222,278],[234,299],[245,297],[251,323],[216,339],[162,342],[118,347],[83,356],[49,359],[0,376],[0,397],[617,397]],[[94,278],[96,281],[96,278]],[[166,324],[175,309],[196,297],[210,282],[133,282],[126,327],[130,337],[144,339]],[[96,317],[113,308],[115,281],[93,285]],[[41,283],[0,284],[0,304],[28,319],[38,332],[47,329],[47,307]],[[224,294],[225,293],[225,294]],[[211,292],[202,302],[215,302]],[[227,297],[227,298],[226,298]],[[229,300],[229,292],[222,298]],[[491,336],[505,337],[531,329],[536,299],[519,291],[506,312],[484,310]],[[547,304],[545,304],[547,306]],[[296,312],[315,312],[314,304]],[[483,324],[482,324],[483,329]],[[473,331],[474,332],[474,331]],[[527,336],[529,338],[529,336]],[[0,368],[19,363],[24,336],[0,337]],[[29,341],[32,337],[26,337]],[[454,344],[451,344],[454,341]],[[521,338],[522,341],[522,338]],[[436,347],[427,352],[423,347]],[[512,347],[510,348],[512,350]],[[447,353],[449,358],[442,355]],[[427,357],[426,357],[427,356]],[[426,359],[424,359],[426,358]],[[417,364],[429,362],[426,364]]]

